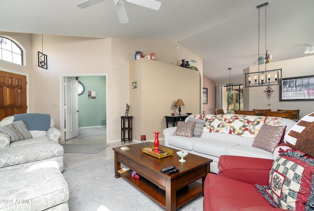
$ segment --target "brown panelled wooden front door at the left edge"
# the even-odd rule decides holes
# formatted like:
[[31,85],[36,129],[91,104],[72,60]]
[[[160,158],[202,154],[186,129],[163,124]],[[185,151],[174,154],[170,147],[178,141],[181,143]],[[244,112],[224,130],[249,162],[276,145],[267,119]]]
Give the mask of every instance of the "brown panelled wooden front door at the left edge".
[[26,109],[26,76],[0,71],[0,121]]

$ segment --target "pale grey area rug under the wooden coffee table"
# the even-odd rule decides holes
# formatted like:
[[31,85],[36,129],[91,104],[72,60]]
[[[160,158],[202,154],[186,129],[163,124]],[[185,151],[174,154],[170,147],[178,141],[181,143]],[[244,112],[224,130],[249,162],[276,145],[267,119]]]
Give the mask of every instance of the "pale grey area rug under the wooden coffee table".
[[[114,177],[114,160],[65,169],[70,211],[164,211],[157,203],[123,178]],[[178,211],[203,210],[203,196]]]

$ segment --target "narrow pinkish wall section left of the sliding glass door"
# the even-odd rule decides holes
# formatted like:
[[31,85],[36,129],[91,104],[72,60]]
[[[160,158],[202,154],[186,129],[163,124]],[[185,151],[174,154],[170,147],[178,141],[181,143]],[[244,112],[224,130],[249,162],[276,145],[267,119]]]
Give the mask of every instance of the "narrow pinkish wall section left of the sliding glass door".
[[216,82],[203,75],[203,87],[208,88],[208,104],[203,104],[204,114],[208,114],[208,109],[216,108]]

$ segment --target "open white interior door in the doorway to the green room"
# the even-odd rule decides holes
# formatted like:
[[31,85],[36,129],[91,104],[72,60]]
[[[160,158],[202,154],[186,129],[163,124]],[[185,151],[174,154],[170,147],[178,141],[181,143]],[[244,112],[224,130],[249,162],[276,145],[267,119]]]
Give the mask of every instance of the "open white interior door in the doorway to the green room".
[[65,140],[78,136],[78,81],[65,78]]

